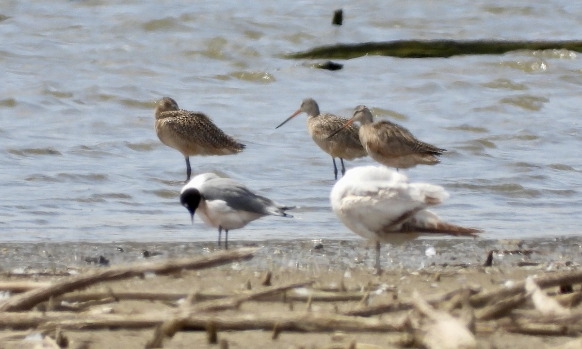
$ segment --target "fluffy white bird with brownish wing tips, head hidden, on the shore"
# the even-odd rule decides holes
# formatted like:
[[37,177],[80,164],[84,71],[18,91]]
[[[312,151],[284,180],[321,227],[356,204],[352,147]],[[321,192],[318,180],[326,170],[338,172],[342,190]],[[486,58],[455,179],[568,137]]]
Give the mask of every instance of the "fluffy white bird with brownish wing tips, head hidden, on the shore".
[[425,209],[448,197],[440,186],[408,183],[408,177],[384,166],[360,166],[335,183],[329,201],[346,227],[375,241],[376,271],[381,273],[381,241],[408,240],[419,233],[474,236],[481,232],[442,222]]

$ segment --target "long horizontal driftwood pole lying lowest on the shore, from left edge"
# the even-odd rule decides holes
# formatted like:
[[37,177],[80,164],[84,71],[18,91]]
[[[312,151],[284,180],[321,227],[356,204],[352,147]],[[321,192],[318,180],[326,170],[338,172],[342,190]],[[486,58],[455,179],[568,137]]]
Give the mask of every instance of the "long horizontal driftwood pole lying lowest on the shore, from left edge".
[[[169,312],[148,314],[77,314],[63,312],[1,312],[0,327],[17,329],[148,329],[170,320]],[[404,329],[404,316],[391,319],[361,318],[317,312],[261,312],[255,314],[197,313],[184,322],[184,329],[205,330],[214,322],[219,330],[266,330],[275,324],[282,331],[297,332],[394,332]]]

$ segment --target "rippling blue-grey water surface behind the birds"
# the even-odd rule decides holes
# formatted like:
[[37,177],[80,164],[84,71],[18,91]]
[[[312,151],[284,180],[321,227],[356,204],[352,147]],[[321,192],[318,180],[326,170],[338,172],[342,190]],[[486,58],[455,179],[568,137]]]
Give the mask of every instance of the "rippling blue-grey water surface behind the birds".
[[[247,144],[192,157],[195,173],[233,177],[285,204],[237,240],[358,238],[335,218],[332,162],[311,141],[305,97],[350,116],[365,104],[446,148],[407,170],[444,186],[443,218],[484,238],[576,236],[582,202],[576,52],[446,59],[364,56],[342,70],[281,54],[335,42],[398,39],[572,40],[582,4],[428,0],[6,1],[0,9],[0,240],[210,241],[179,204],[182,155],[153,130],[154,101],[203,111]],[[347,167],[374,163],[370,158]]]

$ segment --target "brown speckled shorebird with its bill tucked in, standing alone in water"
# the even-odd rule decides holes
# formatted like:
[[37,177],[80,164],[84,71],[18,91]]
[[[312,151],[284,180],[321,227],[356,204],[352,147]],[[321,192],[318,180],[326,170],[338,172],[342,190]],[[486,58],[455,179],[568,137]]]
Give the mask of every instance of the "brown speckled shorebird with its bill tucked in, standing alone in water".
[[190,180],[190,155],[229,155],[242,152],[237,143],[200,112],[184,111],[172,98],[164,97],[155,105],[155,133],[159,140],[186,158],[186,175]]

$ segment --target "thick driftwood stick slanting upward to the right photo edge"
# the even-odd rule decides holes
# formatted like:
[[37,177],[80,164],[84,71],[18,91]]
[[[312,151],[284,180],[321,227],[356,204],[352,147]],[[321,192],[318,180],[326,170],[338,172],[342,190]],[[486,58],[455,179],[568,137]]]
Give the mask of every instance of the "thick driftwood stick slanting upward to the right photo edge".
[[[582,283],[582,270],[544,275],[535,279],[535,283],[537,283],[542,289],[545,287],[560,286],[561,284]],[[516,282],[512,287],[501,286],[496,290],[475,294],[470,298],[471,305],[473,305],[473,307],[482,307],[482,305],[494,300],[495,298],[511,297],[521,292],[525,292],[525,286],[526,282],[520,281]]]

